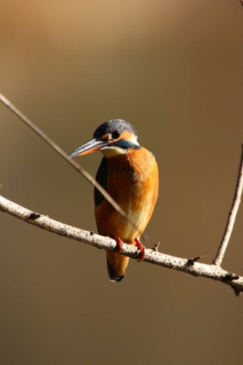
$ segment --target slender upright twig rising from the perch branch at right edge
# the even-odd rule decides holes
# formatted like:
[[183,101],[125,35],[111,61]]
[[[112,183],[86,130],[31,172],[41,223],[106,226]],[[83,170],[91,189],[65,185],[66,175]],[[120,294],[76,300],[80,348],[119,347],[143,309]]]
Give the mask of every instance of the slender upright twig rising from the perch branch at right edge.
[[228,246],[228,241],[231,238],[231,234],[233,231],[233,227],[235,224],[235,218],[237,215],[237,211],[239,209],[240,206],[240,200],[242,197],[242,189],[243,189],[243,145],[242,145],[242,156],[240,159],[240,168],[239,168],[239,174],[237,177],[237,184],[235,187],[235,196],[233,199],[233,204],[231,207],[231,211],[228,215],[228,222],[226,225],[226,229],[224,231],[224,236],[222,238],[222,241],[219,245],[219,249],[217,251],[217,254],[215,256],[215,259],[213,260],[213,263],[217,266],[220,266],[223,259],[224,259],[224,255]]

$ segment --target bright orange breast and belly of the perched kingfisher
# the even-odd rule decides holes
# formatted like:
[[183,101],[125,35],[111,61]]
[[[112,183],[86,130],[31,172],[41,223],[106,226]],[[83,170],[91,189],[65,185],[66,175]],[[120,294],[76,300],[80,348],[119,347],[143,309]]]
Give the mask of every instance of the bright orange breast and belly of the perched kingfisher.
[[122,217],[108,202],[95,207],[99,233],[132,243],[149,222],[158,197],[158,166],[147,149],[131,149],[127,154],[107,159],[108,193],[128,214]]

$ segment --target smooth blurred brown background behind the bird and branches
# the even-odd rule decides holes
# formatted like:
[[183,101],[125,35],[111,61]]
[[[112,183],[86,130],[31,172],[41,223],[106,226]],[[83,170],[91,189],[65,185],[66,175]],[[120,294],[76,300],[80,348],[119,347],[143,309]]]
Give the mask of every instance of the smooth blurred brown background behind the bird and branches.
[[[210,255],[243,142],[240,1],[1,1],[1,92],[67,152],[111,118],[160,167],[147,247]],[[0,105],[1,194],[96,231],[93,189]],[[95,175],[101,154],[78,159]],[[0,214],[1,364],[242,364],[242,298]],[[223,267],[243,274],[243,206]]]

